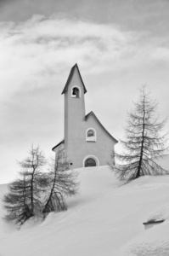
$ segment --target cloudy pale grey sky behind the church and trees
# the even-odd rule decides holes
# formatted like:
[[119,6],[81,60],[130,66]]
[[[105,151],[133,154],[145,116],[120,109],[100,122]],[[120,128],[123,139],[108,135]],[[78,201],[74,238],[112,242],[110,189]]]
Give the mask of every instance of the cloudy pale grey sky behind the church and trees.
[[54,156],[75,63],[86,113],[116,139],[144,84],[168,117],[168,12],[167,0],[0,0],[0,183],[17,176],[31,144]]

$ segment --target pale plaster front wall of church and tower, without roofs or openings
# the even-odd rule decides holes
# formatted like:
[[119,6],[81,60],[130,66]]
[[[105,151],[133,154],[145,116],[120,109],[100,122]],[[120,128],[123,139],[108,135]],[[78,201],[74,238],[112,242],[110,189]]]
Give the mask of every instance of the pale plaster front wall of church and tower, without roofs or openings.
[[[72,88],[78,86],[81,97],[71,97]],[[86,141],[86,131],[93,128],[96,142]],[[99,122],[90,115],[85,120],[84,88],[77,69],[65,91],[65,154],[73,168],[82,167],[87,156],[91,156],[100,166],[107,165],[113,152],[115,141],[104,131]]]

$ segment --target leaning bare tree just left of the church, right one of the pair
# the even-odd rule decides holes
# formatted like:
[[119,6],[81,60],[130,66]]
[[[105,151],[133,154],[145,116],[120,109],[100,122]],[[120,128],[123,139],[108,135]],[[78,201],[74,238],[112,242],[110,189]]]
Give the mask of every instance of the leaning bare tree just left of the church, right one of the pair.
[[77,173],[68,169],[69,164],[59,151],[56,159],[52,160],[48,172],[48,189],[43,213],[67,210],[65,198],[78,193]]

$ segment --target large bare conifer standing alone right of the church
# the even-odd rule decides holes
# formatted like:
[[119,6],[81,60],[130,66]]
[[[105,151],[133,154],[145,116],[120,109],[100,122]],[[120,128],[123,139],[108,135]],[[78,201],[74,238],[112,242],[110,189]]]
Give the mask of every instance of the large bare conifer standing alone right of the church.
[[144,175],[167,173],[155,162],[168,152],[166,134],[161,134],[166,120],[159,121],[156,117],[157,103],[145,92],[145,87],[140,90],[140,98],[134,104],[135,109],[128,113],[126,140],[121,140],[126,151],[115,154],[121,165],[110,165],[121,180],[127,181]]

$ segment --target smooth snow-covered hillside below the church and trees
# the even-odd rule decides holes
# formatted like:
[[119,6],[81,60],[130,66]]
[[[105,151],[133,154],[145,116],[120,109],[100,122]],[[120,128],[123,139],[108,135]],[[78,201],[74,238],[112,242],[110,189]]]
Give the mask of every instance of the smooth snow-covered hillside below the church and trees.
[[[149,230],[143,225],[161,212],[167,216],[169,176],[121,186],[107,166],[78,172],[81,193],[68,200],[68,211],[50,213],[42,223],[31,220],[20,230],[0,219],[0,256],[169,255],[169,220]],[[7,185],[0,185],[1,197],[6,192]]]

